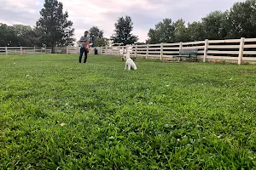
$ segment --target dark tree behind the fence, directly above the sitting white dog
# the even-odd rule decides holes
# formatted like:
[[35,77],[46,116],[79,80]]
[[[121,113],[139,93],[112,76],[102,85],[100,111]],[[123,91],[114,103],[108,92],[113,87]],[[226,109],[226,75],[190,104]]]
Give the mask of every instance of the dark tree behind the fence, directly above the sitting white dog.
[[130,16],[125,16],[125,18],[119,18],[114,26],[115,33],[111,37],[111,39],[113,39],[113,43],[123,43],[124,45],[126,45],[137,42],[137,36],[134,36],[131,33],[131,31],[133,30],[133,23]]

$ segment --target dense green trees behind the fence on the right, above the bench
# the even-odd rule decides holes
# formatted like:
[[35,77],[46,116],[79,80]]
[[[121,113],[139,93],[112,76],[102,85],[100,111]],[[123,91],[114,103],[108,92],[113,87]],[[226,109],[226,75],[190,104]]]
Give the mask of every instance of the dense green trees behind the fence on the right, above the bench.
[[256,37],[256,0],[235,3],[230,10],[213,11],[200,22],[186,26],[184,20],[171,19],[148,31],[148,43],[188,42],[205,39]]

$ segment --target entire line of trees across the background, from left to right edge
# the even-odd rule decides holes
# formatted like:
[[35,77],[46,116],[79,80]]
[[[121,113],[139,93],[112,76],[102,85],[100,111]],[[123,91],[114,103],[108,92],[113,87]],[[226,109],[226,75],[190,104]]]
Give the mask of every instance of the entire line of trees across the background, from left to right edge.
[[[190,42],[205,39],[226,39],[256,37],[256,0],[235,3],[224,12],[214,11],[201,21],[186,24],[185,20],[173,21],[166,18],[148,31],[146,43]],[[44,8],[36,26],[0,23],[0,46],[67,46],[74,45],[73,22],[68,13],[63,12],[63,4],[57,0],[44,0]],[[138,37],[132,34],[133,22],[130,16],[119,17],[114,24],[113,36],[104,37],[104,31],[97,26],[89,30],[94,46],[107,46],[112,40],[115,44],[134,44]]]

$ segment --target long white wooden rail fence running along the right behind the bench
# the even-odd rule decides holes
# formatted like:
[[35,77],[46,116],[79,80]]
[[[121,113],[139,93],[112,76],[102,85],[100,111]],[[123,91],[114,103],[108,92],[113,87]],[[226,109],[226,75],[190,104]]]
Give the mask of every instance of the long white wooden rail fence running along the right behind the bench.
[[211,60],[230,60],[241,65],[242,62],[256,62],[256,38],[205,40],[200,42],[159,43],[130,46],[97,47],[98,54],[131,54],[146,59],[174,59],[181,49],[197,48],[198,59],[203,62]]

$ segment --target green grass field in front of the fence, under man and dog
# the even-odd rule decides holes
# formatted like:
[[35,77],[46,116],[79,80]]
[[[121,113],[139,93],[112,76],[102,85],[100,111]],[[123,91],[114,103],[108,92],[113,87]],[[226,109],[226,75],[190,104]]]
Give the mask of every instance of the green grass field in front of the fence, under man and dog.
[[0,56],[0,169],[256,169],[256,66]]

